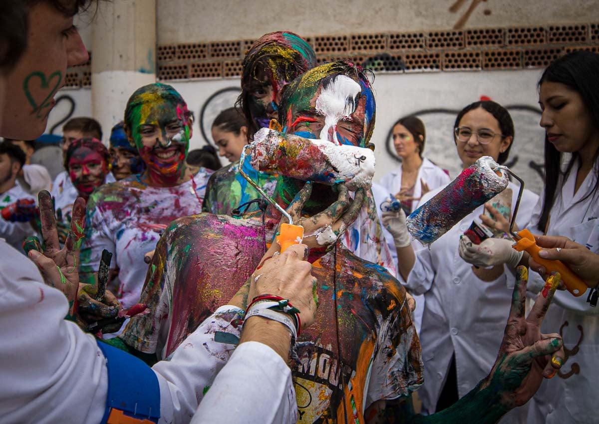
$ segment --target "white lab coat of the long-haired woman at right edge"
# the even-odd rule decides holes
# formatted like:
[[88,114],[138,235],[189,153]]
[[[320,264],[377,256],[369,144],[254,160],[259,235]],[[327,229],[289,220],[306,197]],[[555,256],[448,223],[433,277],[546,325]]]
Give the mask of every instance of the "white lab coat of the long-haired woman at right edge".
[[[599,253],[599,193],[578,202],[592,192],[595,178],[594,172],[589,172],[574,195],[576,172],[570,172],[551,210],[547,235],[568,237]],[[541,232],[536,224],[542,206],[541,198],[531,220],[531,230],[537,233]],[[542,288],[543,279],[531,272],[528,289],[539,292]],[[543,381],[531,401],[530,424],[599,424],[599,307],[586,302],[588,293],[574,297],[558,291],[547,310],[541,331],[560,332],[563,326],[567,359],[558,375]]]

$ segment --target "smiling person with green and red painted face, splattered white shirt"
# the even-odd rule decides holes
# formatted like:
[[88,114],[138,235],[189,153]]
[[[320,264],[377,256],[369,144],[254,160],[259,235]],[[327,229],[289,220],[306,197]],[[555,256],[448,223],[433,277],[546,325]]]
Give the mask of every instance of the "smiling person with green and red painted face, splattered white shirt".
[[143,86],[129,98],[125,132],[146,171],[105,184],[87,202],[86,240],[81,250],[82,281],[93,283],[102,250],[113,253],[114,294],[123,307],[136,304],[147,271],[144,255],[156,246],[168,224],[199,213],[208,176],[187,169],[192,129],[181,95],[167,84]]

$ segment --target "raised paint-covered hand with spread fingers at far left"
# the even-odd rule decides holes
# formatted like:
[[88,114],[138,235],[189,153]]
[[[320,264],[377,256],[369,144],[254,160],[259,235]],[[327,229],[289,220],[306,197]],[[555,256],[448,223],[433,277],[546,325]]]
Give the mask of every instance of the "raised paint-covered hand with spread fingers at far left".
[[44,251],[28,244],[31,249],[27,252],[29,259],[40,268],[46,284],[56,287],[69,302],[68,317],[74,319],[76,315],[76,298],[79,286],[79,250],[83,240],[83,219],[85,214],[85,201],[77,198],[72,208],[71,229],[66,237],[65,245],[60,249],[58,231],[52,207],[52,197],[46,190],[38,195],[40,205],[41,234],[44,240]]

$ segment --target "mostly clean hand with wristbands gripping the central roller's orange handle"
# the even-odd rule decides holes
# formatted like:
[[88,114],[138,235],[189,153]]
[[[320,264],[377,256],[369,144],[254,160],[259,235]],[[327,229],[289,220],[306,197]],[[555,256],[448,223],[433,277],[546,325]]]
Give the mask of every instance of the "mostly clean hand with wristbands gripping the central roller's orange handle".
[[283,253],[265,259],[250,277],[249,299],[269,294],[288,299],[299,309],[302,329],[314,322],[318,295],[316,278],[311,274],[308,246],[294,244]]

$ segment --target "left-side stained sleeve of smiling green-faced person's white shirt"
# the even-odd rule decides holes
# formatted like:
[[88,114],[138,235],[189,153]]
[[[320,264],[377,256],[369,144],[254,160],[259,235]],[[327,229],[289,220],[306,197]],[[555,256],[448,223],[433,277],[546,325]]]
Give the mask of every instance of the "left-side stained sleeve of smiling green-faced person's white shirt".
[[82,283],[95,284],[94,272],[98,271],[102,250],[115,255],[111,268],[116,264],[116,246],[114,235],[110,230],[110,217],[103,210],[103,190],[100,189],[90,196],[85,211],[85,240],[81,246],[79,276]]

